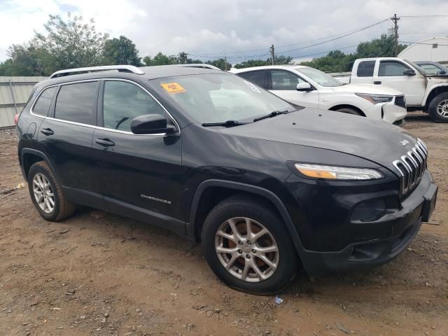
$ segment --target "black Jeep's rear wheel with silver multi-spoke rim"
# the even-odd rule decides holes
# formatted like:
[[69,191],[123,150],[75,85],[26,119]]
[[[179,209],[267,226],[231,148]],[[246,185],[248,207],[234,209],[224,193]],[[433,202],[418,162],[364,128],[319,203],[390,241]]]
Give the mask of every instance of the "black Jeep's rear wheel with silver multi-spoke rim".
[[66,200],[47,162],[39,161],[31,166],[28,174],[28,189],[34,206],[47,221],[62,221],[76,210],[75,204]]

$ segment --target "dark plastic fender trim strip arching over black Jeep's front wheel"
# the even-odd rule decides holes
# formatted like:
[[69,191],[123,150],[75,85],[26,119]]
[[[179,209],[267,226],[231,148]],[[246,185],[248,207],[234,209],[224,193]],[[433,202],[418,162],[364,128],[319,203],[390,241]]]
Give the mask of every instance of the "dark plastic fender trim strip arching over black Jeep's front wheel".
[[246,193],[253,193],[265,197],[267,200],[271,201],[274,204],[274,207],[276,207],[277,211],[279,211],[279,214],[283,219],[283,223],[285,223],[286,225],[286,230],[288,230],[291,239],[293,239],[295,249],[297,250],[297,253],[299,254],[302,262],[304,262],[304,259],[307,258],[306,251],[303,248],[302,241],[300,241],[300,237],[297,233],[297,230],[288,214],[288,211],[286,210],[286,207],[283,205],[283,202],[281,202],[279,197],[274,193],[272,193],[272,191],[245,183],[223,181],[223,180],[207,180],[202,182],[196,189],[195,196],[193,197],[193,202],[191,204],[190,209],[190,221],[186,223],[186,234],[188,237],[195,236],[195,226],[196,226],[195,221],[196,221],[197,207],[199,206],[202,193],[204,193],[204,191],[210,187],[223,187],[233,190],[244,191]]

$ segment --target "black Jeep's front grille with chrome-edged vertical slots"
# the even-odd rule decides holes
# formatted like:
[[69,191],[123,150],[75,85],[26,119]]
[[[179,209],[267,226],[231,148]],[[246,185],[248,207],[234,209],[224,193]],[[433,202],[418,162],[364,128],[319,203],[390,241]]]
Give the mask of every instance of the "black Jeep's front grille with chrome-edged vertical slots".
[[400,174],[401,194],[405,195],[413,190],[420,182],[421,176],[426,170],[428,159],[428,147],[417,139],[412,150],[393,162]]

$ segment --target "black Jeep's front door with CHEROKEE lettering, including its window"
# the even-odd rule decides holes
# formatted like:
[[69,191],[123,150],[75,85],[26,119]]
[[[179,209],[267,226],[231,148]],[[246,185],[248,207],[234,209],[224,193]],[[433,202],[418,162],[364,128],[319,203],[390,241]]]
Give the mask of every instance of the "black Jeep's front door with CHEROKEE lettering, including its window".
[[[110,211],[185,233],[180,133],[136,135],[133,118],[165,109],[143,87],[104,80],[93,137],[98,192]],[[178,127],[179,130],[179,127]]]

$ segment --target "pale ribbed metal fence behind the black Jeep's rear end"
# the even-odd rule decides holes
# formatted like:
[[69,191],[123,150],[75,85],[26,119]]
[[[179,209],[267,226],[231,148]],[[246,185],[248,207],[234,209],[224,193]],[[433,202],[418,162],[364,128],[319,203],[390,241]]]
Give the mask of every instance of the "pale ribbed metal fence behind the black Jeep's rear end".
[[45,77],[0,76],[0,129],[14,126],[14,116],[22,111],[34,85]]

